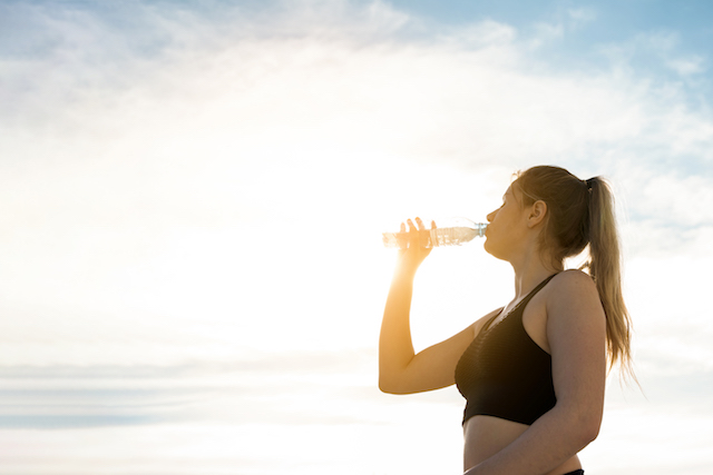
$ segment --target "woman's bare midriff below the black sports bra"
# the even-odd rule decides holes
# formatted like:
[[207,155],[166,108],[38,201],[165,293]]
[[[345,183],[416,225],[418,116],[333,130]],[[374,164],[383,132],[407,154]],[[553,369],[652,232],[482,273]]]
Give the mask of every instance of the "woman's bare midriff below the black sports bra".
[[[528,427],[526,424],[492,416],[470,417],[463,425],[463,472],[507,447]],[[582,464],[575,455],[544,475],[563,475],[578,468],[582,468]]]

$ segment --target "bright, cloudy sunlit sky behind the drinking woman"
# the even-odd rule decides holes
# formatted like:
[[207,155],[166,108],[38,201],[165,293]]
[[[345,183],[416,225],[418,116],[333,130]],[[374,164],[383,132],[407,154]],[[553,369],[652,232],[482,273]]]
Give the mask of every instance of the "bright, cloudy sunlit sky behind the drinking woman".
[[[0,0],[0,466],[457,474],[463,399],[377,388],[414,216],[604,176],[641,383],[587,474],[713,455],[707,1]],[[443,222],[443,221],[441,221]],[[481,241],[416,281],[417,349],[514,296]]]

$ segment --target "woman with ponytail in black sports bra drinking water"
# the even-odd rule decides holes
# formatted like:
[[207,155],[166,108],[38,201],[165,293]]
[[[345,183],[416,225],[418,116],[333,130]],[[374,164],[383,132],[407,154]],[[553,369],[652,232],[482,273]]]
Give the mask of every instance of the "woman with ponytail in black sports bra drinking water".
[[[379,387],[457,384],[467,399],[467,475],[583,474],[577,453],[598,434],[607,364],[631,368],[611,190],[599,177],[534,167],[487,219],[485,249],[512,265],[515,298],[414,354],[412,284],[430,249],[419,245],[423,222],[409,220],[381,327]],[[565,270],[564,259],[587,246],[588,274]]]

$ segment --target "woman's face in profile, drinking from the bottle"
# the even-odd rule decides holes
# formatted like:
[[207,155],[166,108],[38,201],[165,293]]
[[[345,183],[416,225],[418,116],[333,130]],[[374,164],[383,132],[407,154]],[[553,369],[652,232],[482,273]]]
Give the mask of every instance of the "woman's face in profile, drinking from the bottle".
[[[502,206],[487,216],[485,249],[494,257],[508,260],[527,230],[527,208],[524,208],[517,187],[508,187]],[[516,196],[517,194],[517,196]]]

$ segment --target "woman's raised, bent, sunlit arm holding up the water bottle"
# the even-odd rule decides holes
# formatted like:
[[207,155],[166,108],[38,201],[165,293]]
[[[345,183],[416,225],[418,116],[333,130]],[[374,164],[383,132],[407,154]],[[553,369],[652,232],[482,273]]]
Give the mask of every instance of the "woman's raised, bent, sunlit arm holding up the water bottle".
[[[409,221],[411,230],[414,227]],[[418,220],[420,229],[423,224]],[[416,243],[412,238],[411,243]],[[413,278],[430,249],[402,249],[391,283],[379,338],[379,387],[384,393],[410,394],[439,389],[455,383],[458,359],[472,342],[481,320],[418,355],[411,342],[409,316]]]

